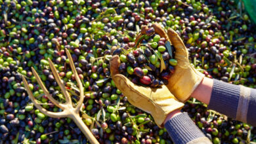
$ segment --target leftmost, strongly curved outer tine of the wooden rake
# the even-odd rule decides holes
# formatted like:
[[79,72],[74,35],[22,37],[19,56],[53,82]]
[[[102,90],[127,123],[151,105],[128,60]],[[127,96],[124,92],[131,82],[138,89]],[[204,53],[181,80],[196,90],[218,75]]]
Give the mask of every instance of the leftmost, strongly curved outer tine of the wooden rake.
[[30,99],[32,100],[33,104],[35,105],[35,107],[37,109],[39,109],[39,111],[41,111],[41,113],[47,115],[48,117],[53,117],[53,118],[60,118],[60,117],[67,117],[68,115],[66,115],[66,111],[62,111],[62,112],[58,112],[58,113],[54,113],[51,111],[47,111],[46,109],[44,109],[38,102],[37,99],[35,99],[35,97],[33,96],[32,91],[30,90],[29,86],[28,86],[28,82],[26,81],[25,77],[22,76],[22,81],[24,83],[24,86],[28,92],[28,96],[30,97]]

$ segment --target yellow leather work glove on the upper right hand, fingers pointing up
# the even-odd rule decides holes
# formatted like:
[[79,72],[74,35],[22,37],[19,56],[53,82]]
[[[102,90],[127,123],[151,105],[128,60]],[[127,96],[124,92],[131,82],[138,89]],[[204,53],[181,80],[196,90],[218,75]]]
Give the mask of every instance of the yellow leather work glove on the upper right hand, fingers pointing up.
[[196,90],[204,75],[190,64],[188,50],[181,37],[171,28],[168,29],[167,35],[171,44],[175,47],[175,59],[178,61],[167,87],[177,99],[185,102],[190,98],[192,92]]

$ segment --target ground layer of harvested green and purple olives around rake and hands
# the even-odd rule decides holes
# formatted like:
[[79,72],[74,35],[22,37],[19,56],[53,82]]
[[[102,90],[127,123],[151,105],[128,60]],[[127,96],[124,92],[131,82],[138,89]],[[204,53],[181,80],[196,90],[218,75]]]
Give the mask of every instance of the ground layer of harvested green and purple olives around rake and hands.
[[[64,102],[49,70],[50,58],[75,103],[79,89],[64,48],[72,54],[85,90],[81,117],[100,143],[172,143],[150,115],[129,104],[110,77],[110,49],[134,48],[140,27],[154,22],[177,31],[188,48],[190,63],[206,77],[256,87],[255,24],[239,1],[0,0],[0,143],[86,143],[70,118],[40,113],[22,82],[24,75],[45,109],[60,111],[32,75],[34,67],[49,93]],[[153,50],[147,51],[153,55]],[[163,56],[165,52],[160,53]],[[124,56],[129,57],[126,53],[120,57]],[[159,58],[158,62],[161,65]],[[155,62],[150,63],[156,67]],[[144,75],[146,70],[140,68]],[[190,99],[182,111],[189,113],[213,143],[256,141],[255,128],[209,111],[195,99]]]

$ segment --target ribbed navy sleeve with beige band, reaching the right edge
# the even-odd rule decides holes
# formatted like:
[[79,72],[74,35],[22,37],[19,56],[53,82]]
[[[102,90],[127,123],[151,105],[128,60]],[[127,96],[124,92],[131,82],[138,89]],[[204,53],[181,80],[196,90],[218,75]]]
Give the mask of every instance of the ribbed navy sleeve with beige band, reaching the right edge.
[[256,126],[256,90],[213,80],[209,109]]

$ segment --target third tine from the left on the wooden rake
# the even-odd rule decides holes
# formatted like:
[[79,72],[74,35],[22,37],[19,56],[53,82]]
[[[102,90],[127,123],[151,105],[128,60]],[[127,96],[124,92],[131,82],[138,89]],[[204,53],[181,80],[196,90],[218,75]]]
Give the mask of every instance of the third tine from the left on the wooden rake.
[[50,58],[48,58],[48,60],[49,60],[51,70],[53,71],[54,78],[56,79],[56,81],[58,83],[58,86],[60,86],[60,89],[61,89],[62,93],[64,94],[64,96],[66,98],[66,102],[69,103],[69,104],[72,104],[70,94],[68,94],[68,91],[66,90],[64,84],[61,82],[60,76],[58,75],[57,70],[54,67],[53,62],[51,61]]

